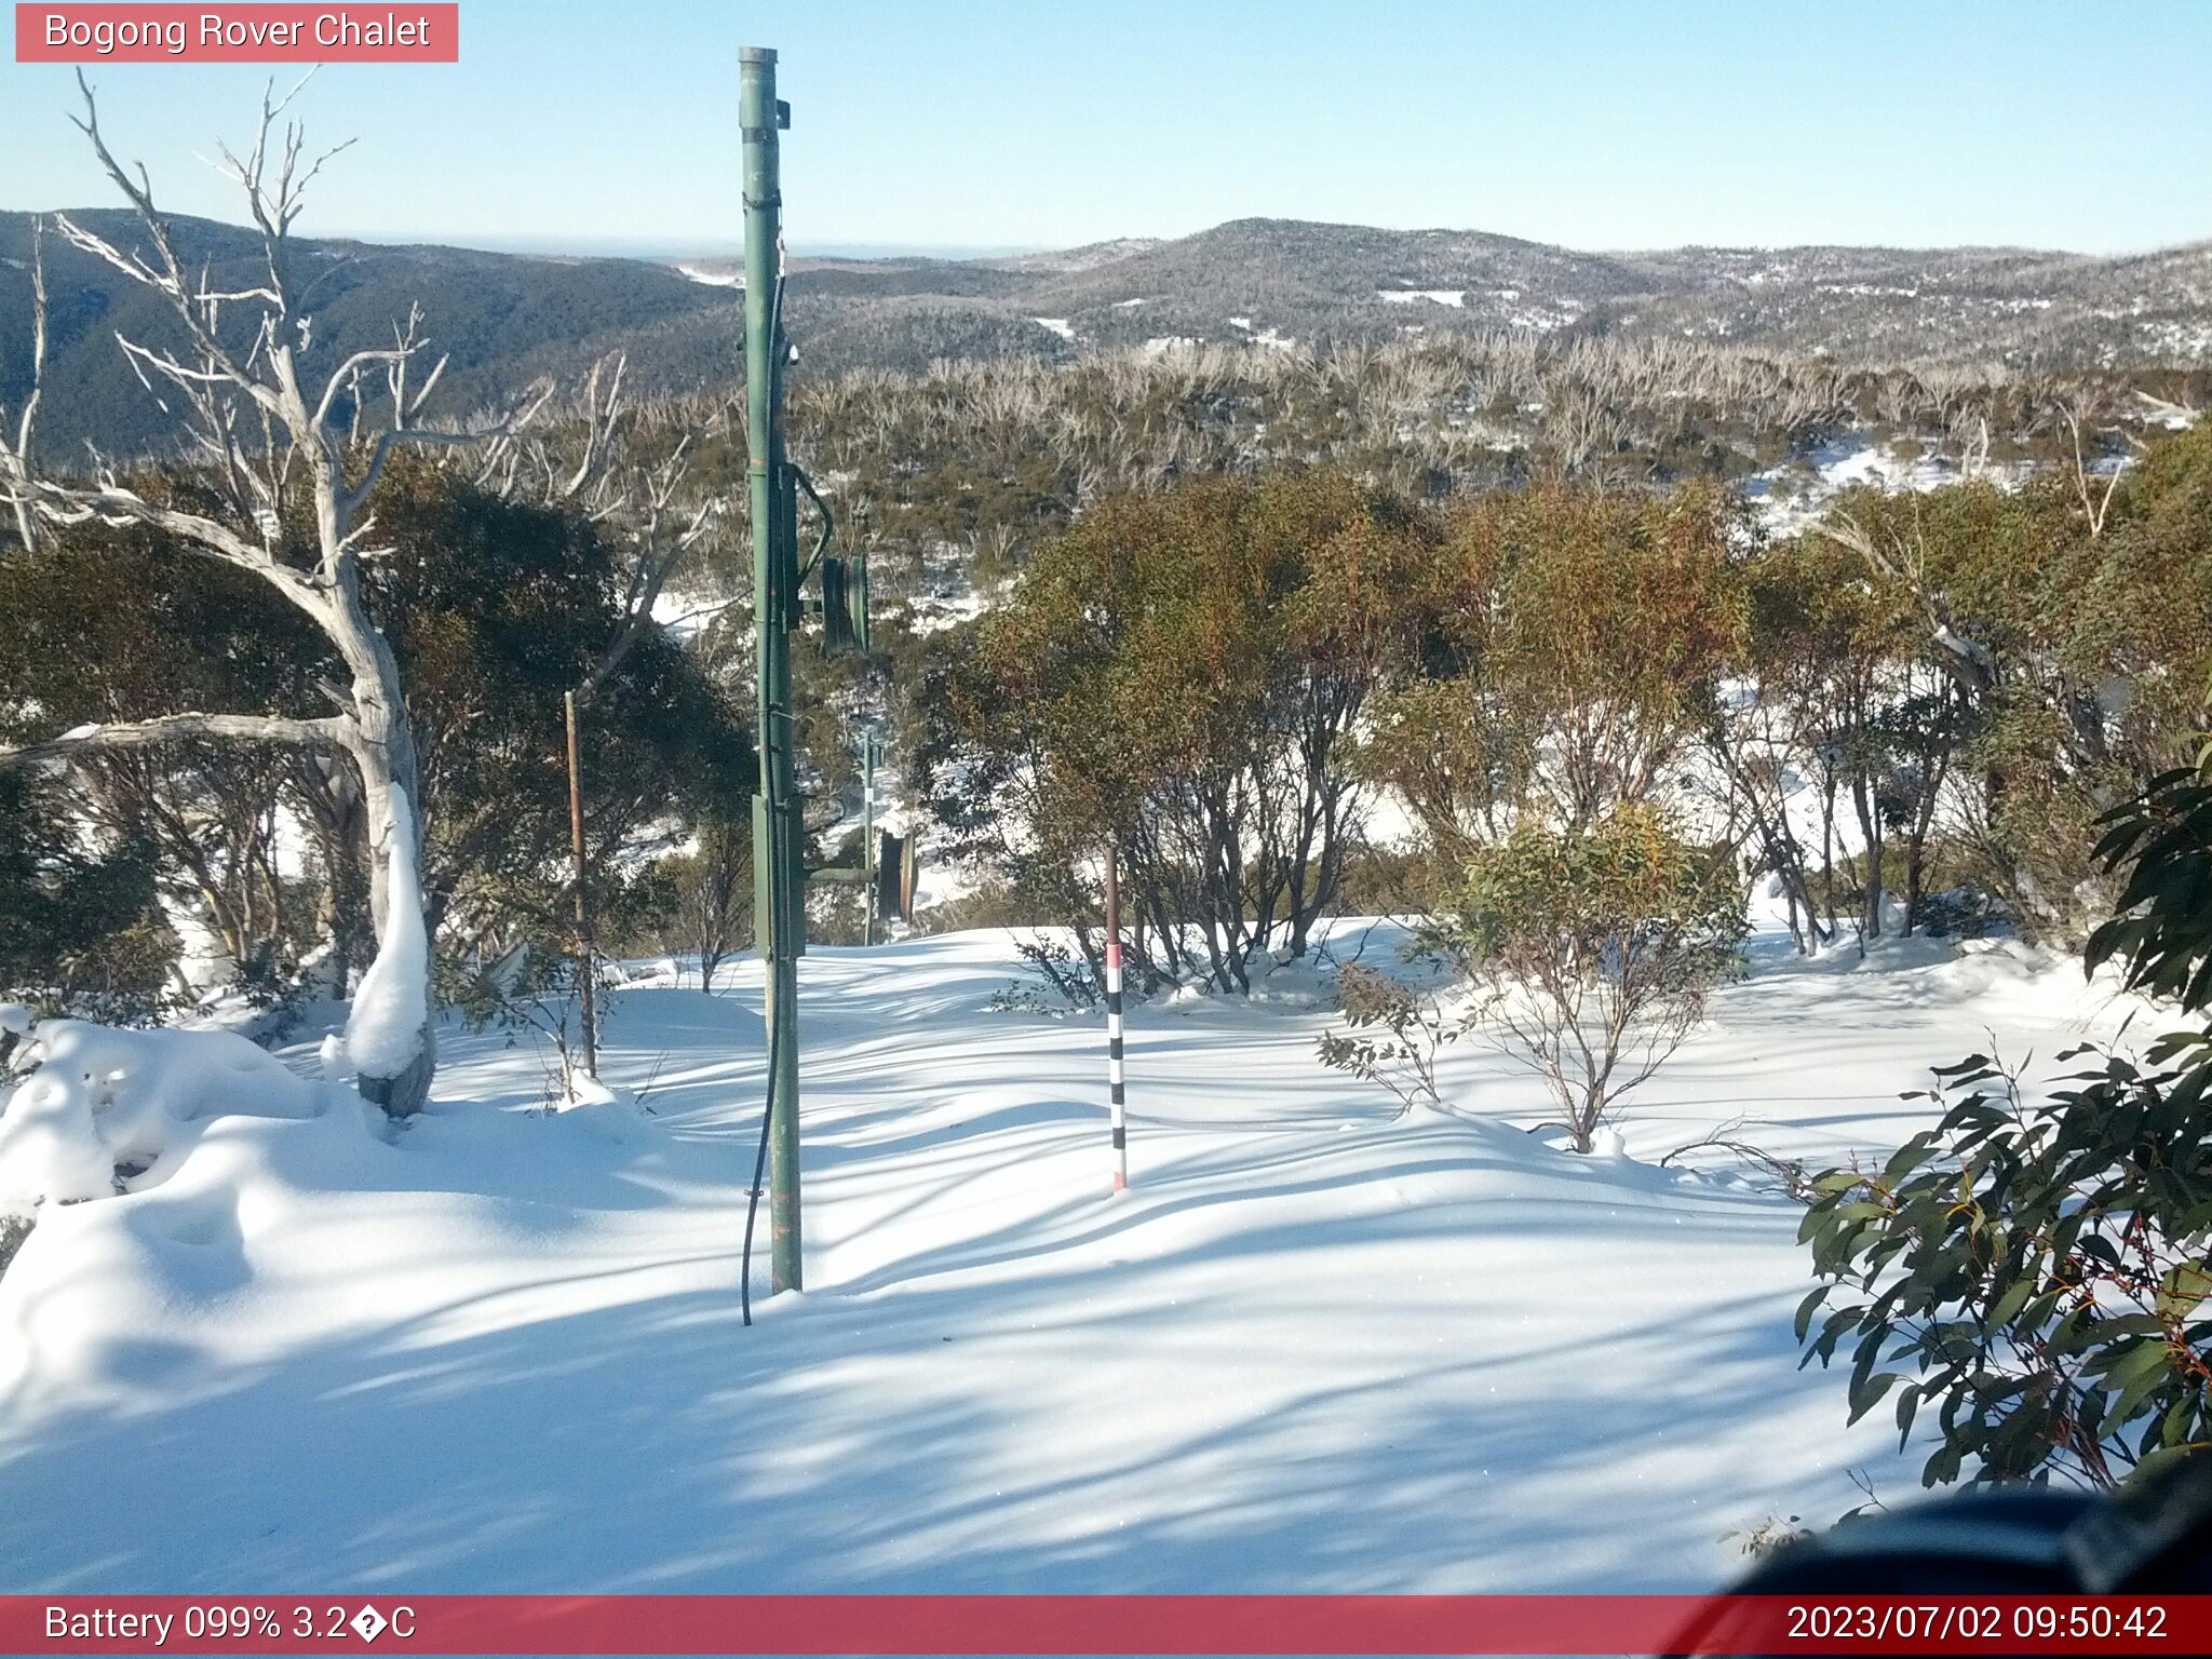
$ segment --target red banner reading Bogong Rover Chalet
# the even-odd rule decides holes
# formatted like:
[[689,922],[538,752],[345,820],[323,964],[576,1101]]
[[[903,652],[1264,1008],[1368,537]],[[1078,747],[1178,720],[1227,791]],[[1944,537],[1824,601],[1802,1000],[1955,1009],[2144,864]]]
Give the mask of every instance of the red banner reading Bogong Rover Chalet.
[[22,4],[18,64],[458,64],[460,4]]

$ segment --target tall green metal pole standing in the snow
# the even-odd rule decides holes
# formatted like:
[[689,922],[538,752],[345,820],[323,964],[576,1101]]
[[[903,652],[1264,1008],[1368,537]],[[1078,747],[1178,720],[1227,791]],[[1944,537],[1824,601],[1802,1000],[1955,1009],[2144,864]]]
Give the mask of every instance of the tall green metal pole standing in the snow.
[[792,776],[792,626],[799,619],[799,524],[783,462],[783,192],[776,131],[776,53],[739,53],[739,124],[745,144],[745,434],[752,484],[752,611],[759,677],[761,783],[752,803],[754,938],[765,980],[768,1194],[774,1234],[772,1290],[801,1290],[799,1237],[799,953],[805,911],[799,869],[799,799]]

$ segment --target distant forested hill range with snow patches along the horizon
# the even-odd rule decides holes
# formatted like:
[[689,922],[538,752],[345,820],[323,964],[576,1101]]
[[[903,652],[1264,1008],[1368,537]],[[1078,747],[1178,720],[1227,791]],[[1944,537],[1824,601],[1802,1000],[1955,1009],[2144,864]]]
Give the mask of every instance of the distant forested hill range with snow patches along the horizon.
[[[135,243],[115,210],[80,219]],[[250,232],[179,219],[217,276],[252,268]],[[164,319],[117,272],[49,237],[53,347],[44,442],[115,451],[168,425],[115,349]],[[29,376],[29,219],[0,215],[0,403]],[[739,369],[737,261],[670,265],[465,248],[303,241],[314,361],[389,338],[420,303],[447,369],[447,409],[498,403],[544,372],[624,345],[639,387]],[[2212,363],[2212,243],[2130,259],[2017,248],[1681,248],[1575,252],[1467,230],[1239,219],[1177,241],[1108,241],[1004,259],[799,259],[787,312],[801,374],[854,365],[1150,341],[1332,345],[1407,332],[1694,336],[1845,363]]]

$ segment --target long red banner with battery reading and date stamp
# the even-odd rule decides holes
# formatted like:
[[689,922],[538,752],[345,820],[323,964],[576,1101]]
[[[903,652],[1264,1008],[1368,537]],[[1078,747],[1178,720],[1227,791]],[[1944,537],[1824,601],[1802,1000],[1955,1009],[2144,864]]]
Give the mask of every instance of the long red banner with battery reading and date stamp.
[[2212,1597],[53,1595],[0,1652],[2212,1652]]

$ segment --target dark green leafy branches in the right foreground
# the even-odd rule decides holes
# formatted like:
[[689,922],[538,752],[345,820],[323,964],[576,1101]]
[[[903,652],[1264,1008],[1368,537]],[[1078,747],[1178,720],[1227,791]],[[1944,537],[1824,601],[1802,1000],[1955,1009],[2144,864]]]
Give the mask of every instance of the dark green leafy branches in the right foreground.
[[[2110,816],[2121,911],[2086,962],[2190,1015],[2212,1000],[2212,774],[2168,772]],[[2053,1475],[2112,1486],[2212,1444],[2212,1029],[2141,1062],[2099,1055],[2028,1102],[2015,1071],[1938,1068],[1933,1130],[1878,1172],[1832,1170],[1798,1237],[1823,1283],[1798,1307],[1805,1360],[1851,1345],[1856,1422],[1891,1389],[1900,1447],[1936,1405],[1927,1484]],[[1845,1298],[1858,1292],[1856,1298]],[[1829,1310],[1814,1332],[1814,1316]]]

